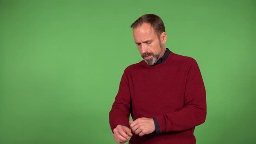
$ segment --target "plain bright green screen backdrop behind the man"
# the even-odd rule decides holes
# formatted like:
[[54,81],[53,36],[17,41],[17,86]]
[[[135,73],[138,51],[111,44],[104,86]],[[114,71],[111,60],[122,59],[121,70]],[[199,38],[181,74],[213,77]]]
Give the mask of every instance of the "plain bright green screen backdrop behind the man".
[[145,13],[200,66],[197,144],[255,144],[255,0],[0,0],[0,144],[114,144],[108,113]]

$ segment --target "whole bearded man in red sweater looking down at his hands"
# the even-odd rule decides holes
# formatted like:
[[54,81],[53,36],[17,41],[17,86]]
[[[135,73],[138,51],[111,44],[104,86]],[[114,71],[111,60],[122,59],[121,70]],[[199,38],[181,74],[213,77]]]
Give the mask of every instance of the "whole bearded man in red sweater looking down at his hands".
[[[131,27],[144,61],[128,66],[109,113],[118,144],[195,144],[206,118],[206,93],[197,62],[165,48],[159,16],[145,14]],[[133,121],[129,121],[129,115]]]

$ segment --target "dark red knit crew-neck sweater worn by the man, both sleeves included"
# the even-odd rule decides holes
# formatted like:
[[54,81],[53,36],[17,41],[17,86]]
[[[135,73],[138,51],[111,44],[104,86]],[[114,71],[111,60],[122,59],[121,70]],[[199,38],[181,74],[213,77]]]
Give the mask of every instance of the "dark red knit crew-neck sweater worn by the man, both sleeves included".
[[128,66],[109,113],[111,129],[129,128],[129,115],[156,118],[160,134],[133,134],[129,144],[195,144],[195,126],[206,118],[206,93],[197,62],[170,53],[166,61]]

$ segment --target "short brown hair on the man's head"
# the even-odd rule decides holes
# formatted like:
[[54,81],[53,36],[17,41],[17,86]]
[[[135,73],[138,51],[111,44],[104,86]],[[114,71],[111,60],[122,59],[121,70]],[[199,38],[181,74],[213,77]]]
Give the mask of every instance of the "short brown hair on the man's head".
[[138,26],[141,26],[142,23],[150,23],[154,29],[154,33],[156,33],[159,38],[160,35],[165,32],[164,22],[159,16],[155,14],[144,14],[131,24],[131,28],[134,29]]

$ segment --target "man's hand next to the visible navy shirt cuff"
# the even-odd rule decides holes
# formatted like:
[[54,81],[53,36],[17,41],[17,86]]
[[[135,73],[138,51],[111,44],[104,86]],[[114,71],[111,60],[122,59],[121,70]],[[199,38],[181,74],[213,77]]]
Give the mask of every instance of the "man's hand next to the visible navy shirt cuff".
[[129,121],[129,124],[131,131],[141,137],[155,130],[153,118],[138,118],[135,121]]

